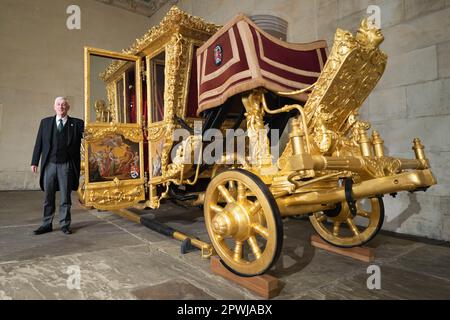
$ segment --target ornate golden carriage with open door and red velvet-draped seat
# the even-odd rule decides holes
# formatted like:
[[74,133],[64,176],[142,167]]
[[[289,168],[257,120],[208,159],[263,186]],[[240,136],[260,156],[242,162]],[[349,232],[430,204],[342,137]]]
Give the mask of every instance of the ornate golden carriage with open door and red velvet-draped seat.
[[[358,119],[386,66],[382,40],[364,20],[356,36],[338,29],[327,57],[323,41],[284,43],[243,15],[220,27],[173,7],[123,53],[86,48],[80,199],[105,210],[202,205],[212,245],[194,245],[244,276],[278,259],[282,217],[308,215],[336,246],[366,243],[384,194],[436,183],[419,139],[414,159],[389,157]],[[179,128],[187,135],[174,138]],[[211,129],[242,129],[244,153],[205,162]]]

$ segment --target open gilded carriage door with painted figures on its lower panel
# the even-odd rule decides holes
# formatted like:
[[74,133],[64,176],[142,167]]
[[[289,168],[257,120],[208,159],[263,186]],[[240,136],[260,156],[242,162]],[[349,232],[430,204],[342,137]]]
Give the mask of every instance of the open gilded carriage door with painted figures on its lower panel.
[[85,48],[85,204],[109,210],[145,199],[138,56]]

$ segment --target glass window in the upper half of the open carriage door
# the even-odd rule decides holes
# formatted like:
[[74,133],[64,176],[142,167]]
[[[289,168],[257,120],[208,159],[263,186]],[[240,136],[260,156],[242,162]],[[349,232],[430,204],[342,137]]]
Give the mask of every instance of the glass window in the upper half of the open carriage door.
[[136,123],[135,62],[90,59],[90,121]]

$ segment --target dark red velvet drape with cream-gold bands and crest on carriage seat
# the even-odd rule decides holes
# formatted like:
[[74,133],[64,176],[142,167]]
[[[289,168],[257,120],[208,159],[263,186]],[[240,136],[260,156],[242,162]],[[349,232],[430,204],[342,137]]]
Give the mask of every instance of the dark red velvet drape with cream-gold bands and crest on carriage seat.
[[[197,115],[257,87],[293,91],[313,84],[325,64],[326,46],[326,41],[284,42],[239,14],[197,50]],[[292,98],[306,101],[307,95]]]

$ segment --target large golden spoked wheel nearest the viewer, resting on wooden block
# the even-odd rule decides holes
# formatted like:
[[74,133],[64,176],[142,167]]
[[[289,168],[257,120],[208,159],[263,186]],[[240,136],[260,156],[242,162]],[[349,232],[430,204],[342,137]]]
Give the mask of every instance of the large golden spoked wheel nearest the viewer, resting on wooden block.
[[245,277],[271,268],[281,253],[283,227],[278,206],[256,175],[236,169],[209,183],[205,224],[224,266]]

